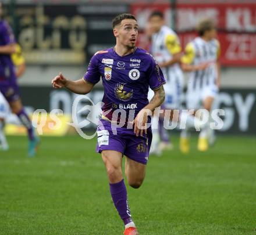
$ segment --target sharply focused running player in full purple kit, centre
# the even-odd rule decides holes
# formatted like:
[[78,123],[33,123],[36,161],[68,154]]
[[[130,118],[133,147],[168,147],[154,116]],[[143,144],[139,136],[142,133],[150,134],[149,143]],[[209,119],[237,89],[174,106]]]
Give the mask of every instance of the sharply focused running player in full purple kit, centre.
[[[136,47],[138,24],[133,15],[116,16],[112,27],[116,45],[95,53],[84,78],[71,81],[59,74],[52,79],[52,85],[54,88],[65,87],[74,93],[87,94],[102,78],[104,106],[97,128],[97,151],[105,164],[113,203],[125,223],[124,234],[136,235],[138,232],[131,219],[123,180],[122,157],[126,156],[127,181],[137,189],[145,177],[152,139],[151,128],[144,128],[147,122],[150,123],[147,111],[154,111],[164,101],[165,79],[154,58]],[[150,102],[147,99],[149,87],[154,91]],[[118,117],[117,110],[126,114],[122,127],[119,125],[122,118]],[[135,117],[132,124],[129,114]]]

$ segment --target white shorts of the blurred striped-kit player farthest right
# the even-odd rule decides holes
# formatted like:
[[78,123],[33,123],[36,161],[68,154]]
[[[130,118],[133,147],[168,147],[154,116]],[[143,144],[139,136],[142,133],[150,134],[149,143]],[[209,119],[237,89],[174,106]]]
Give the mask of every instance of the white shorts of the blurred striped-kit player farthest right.
[[215,98],[219,89],[216,85],[204,86],[202,89],[188,90],[186,96],[187,109],[200,109],[207,97]]

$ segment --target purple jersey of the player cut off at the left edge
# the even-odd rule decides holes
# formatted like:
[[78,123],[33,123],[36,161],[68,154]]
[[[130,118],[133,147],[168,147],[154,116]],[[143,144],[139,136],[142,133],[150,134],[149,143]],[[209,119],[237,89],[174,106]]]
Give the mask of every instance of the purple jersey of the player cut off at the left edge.
[[[5,20],[0,21],[0,46],[15,44],[15,37],[9,24]],[[15,68],[10,55],[0,54],[0,82],[15,79]]]

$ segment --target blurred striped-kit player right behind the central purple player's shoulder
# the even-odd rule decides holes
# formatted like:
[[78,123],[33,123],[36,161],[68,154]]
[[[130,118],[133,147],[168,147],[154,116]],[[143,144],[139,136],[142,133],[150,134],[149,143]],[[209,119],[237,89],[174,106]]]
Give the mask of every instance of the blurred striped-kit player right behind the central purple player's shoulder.
[[[164,110],[179,110],[183,91],[183,73],[179,65],[182,48],[176,32],[164,24],[162,12],[155,11],[151,13],[148,24],[148,35],[151,35],[151,53],[162,68],[166,79],[166,84],[164,85],[166,98],[161,108]],[[153,95],[154,92],[150,91],[149,99]],[[170,118],[172,119],[172,114]],[[158,129],[152,129],[151,153],[161,154],[162,149],[172,149],[172,144],[166,129],[163,128],[163,117],[161,115],[159,123],[157,122],[158,118],[153,117],[152,126],[158,124]]]

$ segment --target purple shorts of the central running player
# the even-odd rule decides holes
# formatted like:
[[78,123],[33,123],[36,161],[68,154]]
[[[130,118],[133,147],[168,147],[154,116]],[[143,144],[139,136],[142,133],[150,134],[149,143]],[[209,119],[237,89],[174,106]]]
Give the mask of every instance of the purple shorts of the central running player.
[[116,135],[112,132],[109,121],[100,120],[97,128],[98,143],[96,151],[101,153],[102,150],[119,151],[133,161],[147,164],[148,154],[152,141],[151,128],[147,129],[147,135],[136,136],[133,129],[117,128]]

